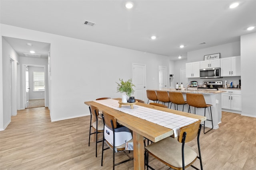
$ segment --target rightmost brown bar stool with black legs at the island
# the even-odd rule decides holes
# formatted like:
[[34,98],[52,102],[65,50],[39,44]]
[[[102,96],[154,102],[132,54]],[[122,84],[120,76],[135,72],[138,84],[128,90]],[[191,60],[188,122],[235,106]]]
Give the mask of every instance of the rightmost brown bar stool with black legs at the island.
[[[210,130],[213,129],[213,121],[212,121],[212,109],[211,109],[211,104],[206,104],[205,100],[204,100],[204,96],[202,94],[192,94],[192,93],[187,93],[186,94],[187,97],[187,104],[189,105],[188,107],[188,112],[190,113],[190,106],[193,106],[195,108],[195,114],[196,114],[196,107],[197,108],[204,108],[204,116],[205,116],[205,111],[207,107],[210,107],[210,115],[211,115],[211,119],[206,119],[208,121],[212,122],[212,128]],[[204,129],[205,129],[205,121],[204,121]],[[206,131],[204,130],[204,134],[208,133],[210,130]]]

